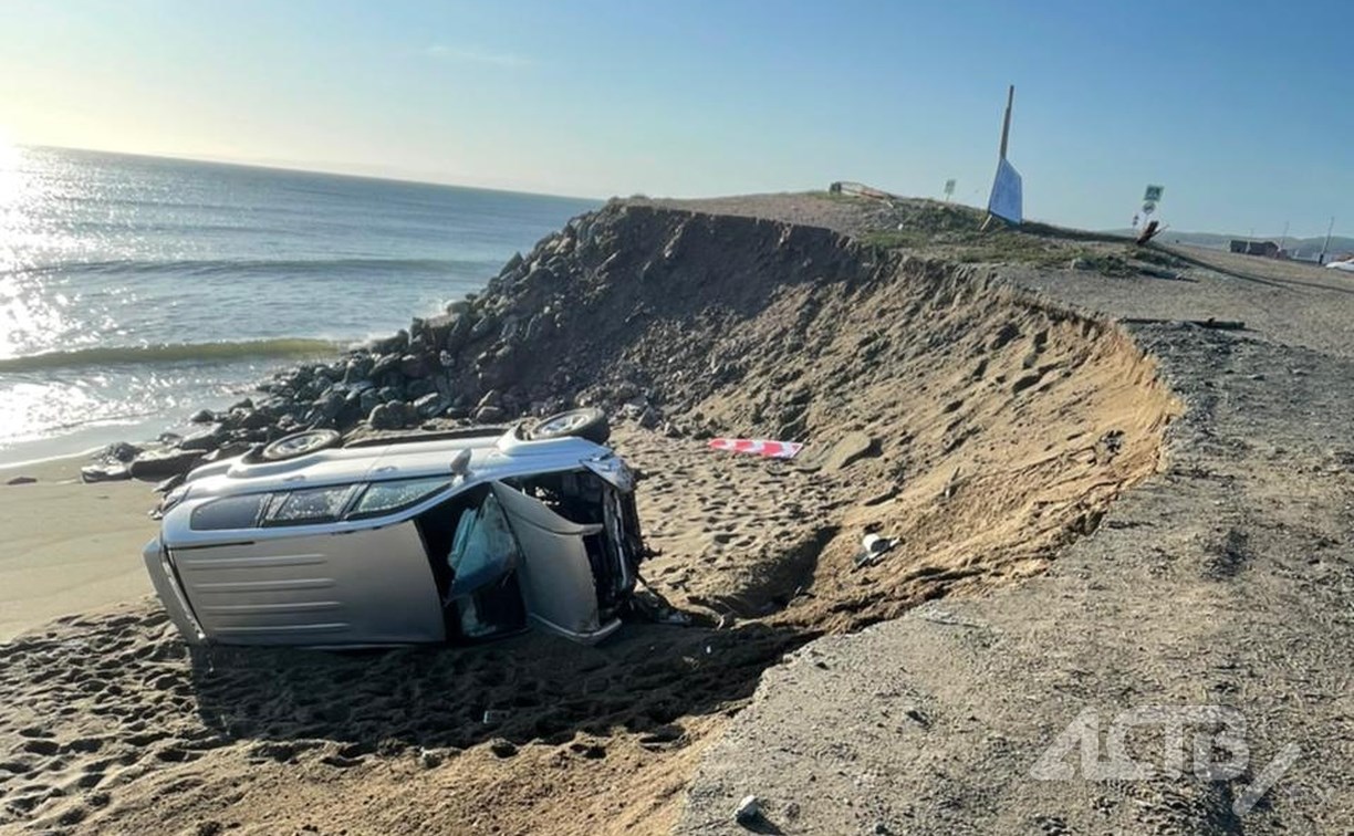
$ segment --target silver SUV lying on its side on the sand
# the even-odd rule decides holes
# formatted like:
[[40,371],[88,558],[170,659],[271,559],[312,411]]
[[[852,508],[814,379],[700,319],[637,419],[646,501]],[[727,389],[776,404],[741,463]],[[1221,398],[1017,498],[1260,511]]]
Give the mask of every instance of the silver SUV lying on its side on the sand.
[[[487,433],[487,434],[486,434]],[[280,438],[165,496],[146,570],[191,644],[374,647],[620,626],[645,557],[597,410],[529,430]]]

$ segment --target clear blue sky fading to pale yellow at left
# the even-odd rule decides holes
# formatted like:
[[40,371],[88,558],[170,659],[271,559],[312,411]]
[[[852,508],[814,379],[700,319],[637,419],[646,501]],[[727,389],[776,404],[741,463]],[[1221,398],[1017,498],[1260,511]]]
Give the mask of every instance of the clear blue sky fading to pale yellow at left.
[[581,196],[861,180],[1354,231],[1354,4],[0,0],[11,142]]

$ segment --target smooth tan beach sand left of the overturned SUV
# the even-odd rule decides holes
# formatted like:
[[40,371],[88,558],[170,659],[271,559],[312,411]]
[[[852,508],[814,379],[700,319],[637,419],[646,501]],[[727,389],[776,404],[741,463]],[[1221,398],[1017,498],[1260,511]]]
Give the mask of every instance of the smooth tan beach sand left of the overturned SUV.
[[[70,613],[149,594],[141,548],[157,529],[145,482],[83,484],[83,459],[0,468],[0,641]],[[8,484],[18,478],[37,482]]]

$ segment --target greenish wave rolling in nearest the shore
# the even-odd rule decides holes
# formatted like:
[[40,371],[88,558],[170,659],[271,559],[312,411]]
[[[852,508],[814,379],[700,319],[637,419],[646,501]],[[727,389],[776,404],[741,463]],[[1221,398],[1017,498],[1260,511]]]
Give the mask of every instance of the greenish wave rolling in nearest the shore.
[[161,345],[92,346],[0,358],[0,373],[37,372],[97,365],[230,363],[250,358],[303,358],[334,354],[347,344],[330,340],[283,337],[238,342],[173,342]]

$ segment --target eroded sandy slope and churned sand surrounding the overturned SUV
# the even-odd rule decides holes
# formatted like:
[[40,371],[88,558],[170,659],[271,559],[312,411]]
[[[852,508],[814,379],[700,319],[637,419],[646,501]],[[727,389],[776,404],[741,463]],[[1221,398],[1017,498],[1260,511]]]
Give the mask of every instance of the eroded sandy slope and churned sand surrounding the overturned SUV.
[[[776,220],[613,204],[463,312],[494,327],[416,329],[450,391],[634,417],[646,575],[697,624],[192,666],[153,603],[68,620],[0,645],[0,828],[663,832],[768,666],[1043,571],[1159,469],[1178,413],[1104,319]],[[872,530],[898,545],[857,567]]]

